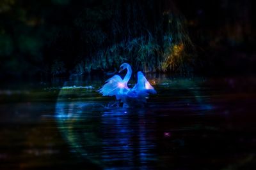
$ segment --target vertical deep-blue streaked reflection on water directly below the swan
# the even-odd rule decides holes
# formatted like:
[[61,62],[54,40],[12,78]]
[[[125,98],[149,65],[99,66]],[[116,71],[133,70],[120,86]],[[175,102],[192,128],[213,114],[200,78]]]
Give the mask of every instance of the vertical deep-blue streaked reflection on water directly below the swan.
[[103,161],[106,164],[141,167],[156,160],[154,120],[147,120],[146,111],[110,110],[102,115]]

